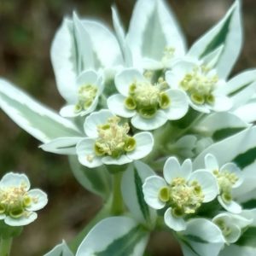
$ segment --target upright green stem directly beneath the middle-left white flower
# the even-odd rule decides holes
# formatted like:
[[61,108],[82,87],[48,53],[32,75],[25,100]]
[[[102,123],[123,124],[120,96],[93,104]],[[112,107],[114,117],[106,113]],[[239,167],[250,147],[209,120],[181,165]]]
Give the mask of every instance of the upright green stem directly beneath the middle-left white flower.
[[124,212],[124,202],[121,193],[121,180],[123,172],[113,173],[113,197],[110,212],[113,215],[120,215]]

